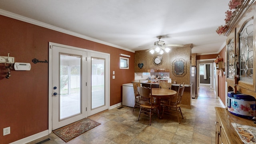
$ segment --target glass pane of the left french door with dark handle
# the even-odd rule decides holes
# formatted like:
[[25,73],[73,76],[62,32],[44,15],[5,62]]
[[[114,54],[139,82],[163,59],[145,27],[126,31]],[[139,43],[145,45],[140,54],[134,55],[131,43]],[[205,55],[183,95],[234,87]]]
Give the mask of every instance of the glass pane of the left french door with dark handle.
[[60,54],[60,120],[81,113],[81,57]]

